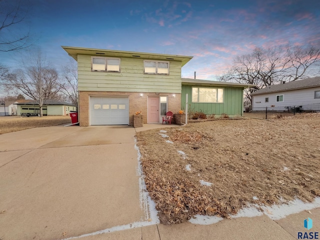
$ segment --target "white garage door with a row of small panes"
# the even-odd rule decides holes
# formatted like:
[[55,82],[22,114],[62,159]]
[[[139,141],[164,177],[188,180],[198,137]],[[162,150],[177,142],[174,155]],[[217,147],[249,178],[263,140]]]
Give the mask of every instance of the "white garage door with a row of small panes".
[[90,96],[91,125],[128,125],[127,96]]

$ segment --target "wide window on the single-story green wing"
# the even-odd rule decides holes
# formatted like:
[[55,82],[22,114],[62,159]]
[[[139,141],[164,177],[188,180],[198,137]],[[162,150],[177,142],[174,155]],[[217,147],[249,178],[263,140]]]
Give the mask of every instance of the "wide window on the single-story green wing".
[[192,102],[223,103],[223,88],[192,87]]

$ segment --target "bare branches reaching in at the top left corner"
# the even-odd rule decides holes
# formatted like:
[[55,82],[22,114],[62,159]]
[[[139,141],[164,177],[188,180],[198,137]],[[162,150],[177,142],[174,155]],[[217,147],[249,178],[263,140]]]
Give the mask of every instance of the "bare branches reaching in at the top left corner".
[[20,0],[0,0],[0,51],[13,51],[30,46],[25,26],[27,9]]

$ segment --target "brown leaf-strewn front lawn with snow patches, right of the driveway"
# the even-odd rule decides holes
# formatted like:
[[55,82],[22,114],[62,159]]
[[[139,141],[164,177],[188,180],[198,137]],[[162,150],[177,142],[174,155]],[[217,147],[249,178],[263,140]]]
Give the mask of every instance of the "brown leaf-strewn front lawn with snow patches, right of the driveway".
[[249,203],[320,196],[320,113],[163,129],[136,136],[146,186],[164,224],[195,214],[229,217]]

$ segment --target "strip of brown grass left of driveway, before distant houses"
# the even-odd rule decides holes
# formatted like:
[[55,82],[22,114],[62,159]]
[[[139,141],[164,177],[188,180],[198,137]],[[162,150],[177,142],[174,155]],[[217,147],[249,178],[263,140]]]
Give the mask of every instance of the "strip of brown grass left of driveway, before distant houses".
[[55,126],[70,122],[70,116],[2,116],[0,117],[0,134],[33,127]]

